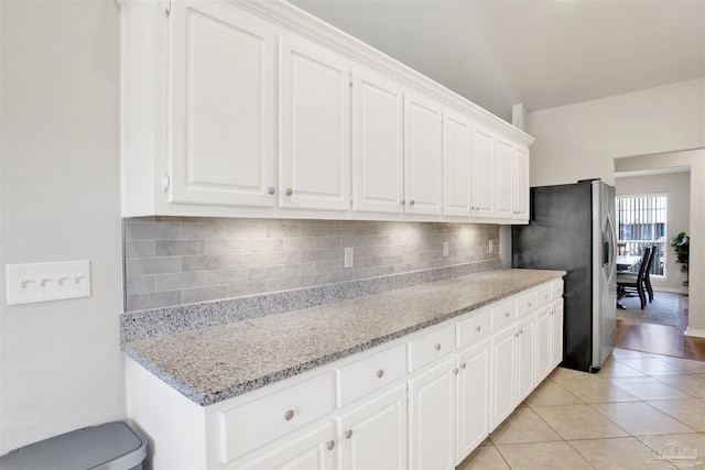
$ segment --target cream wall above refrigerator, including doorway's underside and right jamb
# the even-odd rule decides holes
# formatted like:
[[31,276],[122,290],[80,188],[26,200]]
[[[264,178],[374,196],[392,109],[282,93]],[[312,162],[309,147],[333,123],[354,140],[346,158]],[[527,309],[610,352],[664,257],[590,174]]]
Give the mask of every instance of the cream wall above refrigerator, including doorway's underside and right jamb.
[[532,186],[614,184],[615,159],[628,156],[634,165],[620,171],[691,166],[688,332],[705,336],[705,152],[677,152],[705,147],[705,78],[530,112],[528,123]]

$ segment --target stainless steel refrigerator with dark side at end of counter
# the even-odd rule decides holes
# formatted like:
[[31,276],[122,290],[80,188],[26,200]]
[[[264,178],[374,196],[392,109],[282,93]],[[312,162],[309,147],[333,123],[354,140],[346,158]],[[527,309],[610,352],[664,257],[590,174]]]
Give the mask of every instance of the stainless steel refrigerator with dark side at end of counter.
[[532,187],[512,227],[512,267],[563,270],[562,367],[597,372],[615,348],[615,188],[599,179]]

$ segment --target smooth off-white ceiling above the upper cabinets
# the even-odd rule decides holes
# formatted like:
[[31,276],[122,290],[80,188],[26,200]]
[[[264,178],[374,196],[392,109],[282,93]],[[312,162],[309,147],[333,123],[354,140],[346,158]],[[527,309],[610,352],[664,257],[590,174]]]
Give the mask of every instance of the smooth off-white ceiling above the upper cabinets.
[[511,121],[705,76],[705,0],[290,0]]

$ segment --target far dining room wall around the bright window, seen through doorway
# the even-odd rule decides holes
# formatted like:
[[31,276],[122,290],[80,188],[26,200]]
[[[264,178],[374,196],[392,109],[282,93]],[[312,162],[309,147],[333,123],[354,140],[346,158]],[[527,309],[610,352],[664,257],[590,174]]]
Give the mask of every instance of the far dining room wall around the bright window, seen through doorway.
[[681,265],[675,263],[675,253],[668,241],[681,231],[691,232],[691,173],[669,173],[617,177],[617,196],[639,196],[646,194],[665,194],[668,196],[665,278],[651,277],[655,291],[681,292]]

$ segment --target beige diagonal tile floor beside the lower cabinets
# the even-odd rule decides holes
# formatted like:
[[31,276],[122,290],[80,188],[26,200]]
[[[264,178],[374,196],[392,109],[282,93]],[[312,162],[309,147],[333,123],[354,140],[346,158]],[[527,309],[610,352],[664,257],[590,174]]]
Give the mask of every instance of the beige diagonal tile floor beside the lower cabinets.
[[556,369],[456,470],[664,468],[705,470],[705,362],[616,349]]

